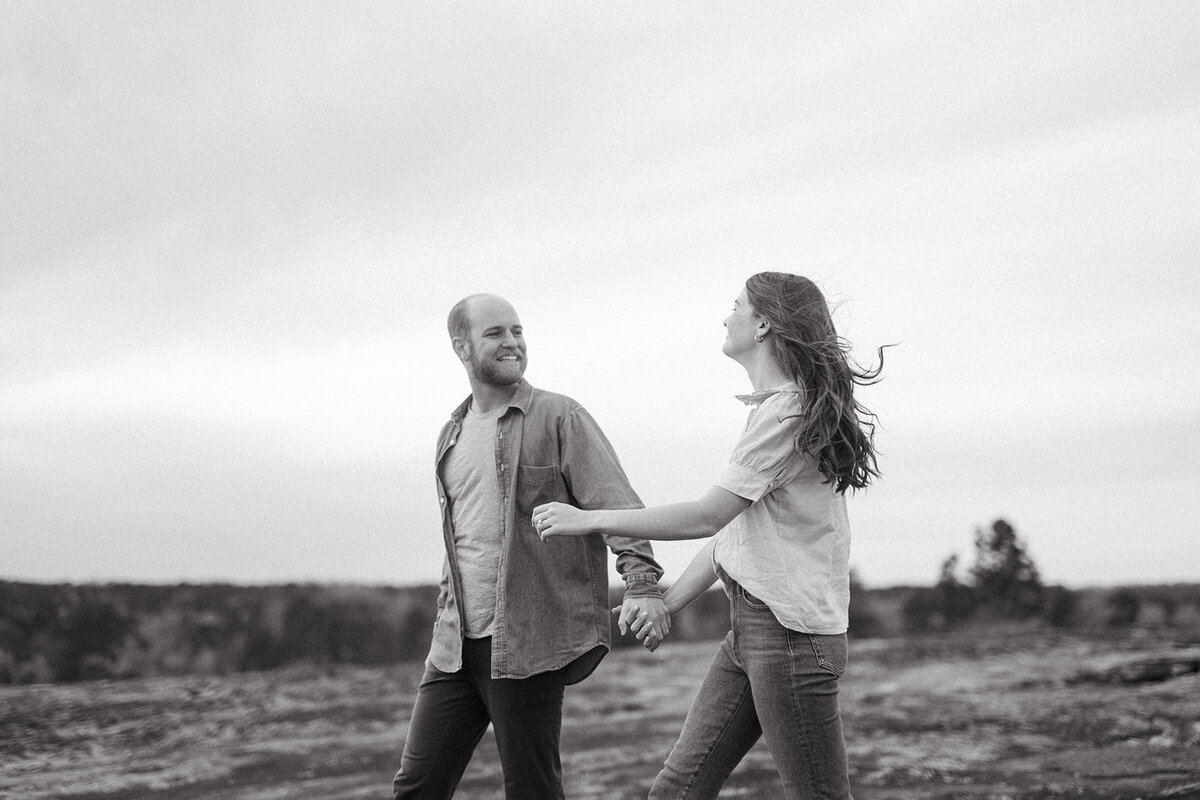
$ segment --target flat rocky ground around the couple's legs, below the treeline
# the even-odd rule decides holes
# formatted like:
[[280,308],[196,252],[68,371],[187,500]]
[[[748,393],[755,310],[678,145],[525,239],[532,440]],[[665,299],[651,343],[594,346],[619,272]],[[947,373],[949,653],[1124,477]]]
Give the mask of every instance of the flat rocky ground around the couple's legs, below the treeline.
[[[644,798],[715,643],[618,650],[568,690],[568,796]],[[419,664],[0,687],[5,800],[389,796]],[[858,800],[1200,798],[1200,648],[1030,632],[856,642]],[[458,798],[503,796],[485,738]],[[751,751],[721,796],[774,798]]]

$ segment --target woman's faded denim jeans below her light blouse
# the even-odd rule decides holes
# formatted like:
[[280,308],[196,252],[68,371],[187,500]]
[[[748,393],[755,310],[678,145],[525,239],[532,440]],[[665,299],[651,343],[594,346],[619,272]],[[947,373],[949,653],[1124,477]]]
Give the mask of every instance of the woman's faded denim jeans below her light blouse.
[[715,798],[760,735],[786,798],[850,798],[838,715],[846,634],[791,631],[737,583],[730,622],[650,800]]

